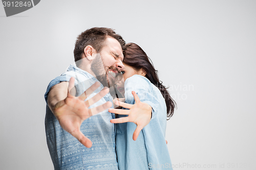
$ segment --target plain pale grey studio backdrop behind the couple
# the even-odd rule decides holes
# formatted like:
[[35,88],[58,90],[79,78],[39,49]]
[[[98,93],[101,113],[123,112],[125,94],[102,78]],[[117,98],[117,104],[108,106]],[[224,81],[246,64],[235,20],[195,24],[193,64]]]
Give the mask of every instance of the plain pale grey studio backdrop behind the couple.
[[47,85],[74,62],[78,34],[109,27],[139,44],[170,86],[174,169],[254,169],[255,9],[246,0],[42,0],[6,17],[0,4],[0,168],[53,169]]

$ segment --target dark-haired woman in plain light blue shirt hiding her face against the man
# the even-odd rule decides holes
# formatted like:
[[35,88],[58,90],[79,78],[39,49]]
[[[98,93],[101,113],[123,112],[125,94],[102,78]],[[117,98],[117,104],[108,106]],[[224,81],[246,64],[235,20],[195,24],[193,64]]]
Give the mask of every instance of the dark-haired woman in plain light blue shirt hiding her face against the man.
[[[136,141],[132,140],[136,124],[117,124],[118,167],[120,170],[172,169],[165,143],[165,129],[166,116],[173,115],[176,103],[158,79],[157,70],[141,47],[135,43],[128,43],[126,47],[123,59],[125,68],[121,71],[125,81],[125,103],[135,104],[132,94],[135,91],[141,102],[152,107],[152,119],[142,129]],[[125,116],[118,115],[117,118]]]

